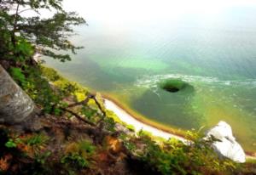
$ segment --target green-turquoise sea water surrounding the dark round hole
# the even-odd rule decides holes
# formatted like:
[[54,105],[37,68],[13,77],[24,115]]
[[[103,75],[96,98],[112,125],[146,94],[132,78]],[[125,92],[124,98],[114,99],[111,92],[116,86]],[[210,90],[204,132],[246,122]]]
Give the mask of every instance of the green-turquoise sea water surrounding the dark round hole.
[[[230,8],[221,18],[184,15],[141,25],[90,20],[76,28],[84,45],[73,61],[47,59],[64,76],[153,121],[183,130],[224,120],[247,151],[256,151],[256,8]],[[168,93],[160,81],[194,87]]]

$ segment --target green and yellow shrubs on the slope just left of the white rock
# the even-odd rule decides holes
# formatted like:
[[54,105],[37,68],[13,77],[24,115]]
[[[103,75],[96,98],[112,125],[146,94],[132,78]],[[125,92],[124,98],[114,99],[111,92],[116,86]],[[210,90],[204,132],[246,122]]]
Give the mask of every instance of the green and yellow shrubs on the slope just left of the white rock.
[[204,174],[205,172],[231,172],[236,164],[230,160],[219,160],[211,148],[211,141],[202,139],[198,133],[189,133],[190,144],[183,144],[177,139],[170,139],[158,144],[147,134],[140,134],[145,150],[141,160],[148,167],[161,174]]

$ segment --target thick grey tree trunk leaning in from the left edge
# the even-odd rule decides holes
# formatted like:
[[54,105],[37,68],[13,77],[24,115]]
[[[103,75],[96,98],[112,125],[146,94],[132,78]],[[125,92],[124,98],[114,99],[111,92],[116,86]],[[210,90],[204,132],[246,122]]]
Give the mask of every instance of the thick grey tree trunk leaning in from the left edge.
[[24,123],[36,109],[32,99],[15,83],[0,65],[0,122]]

